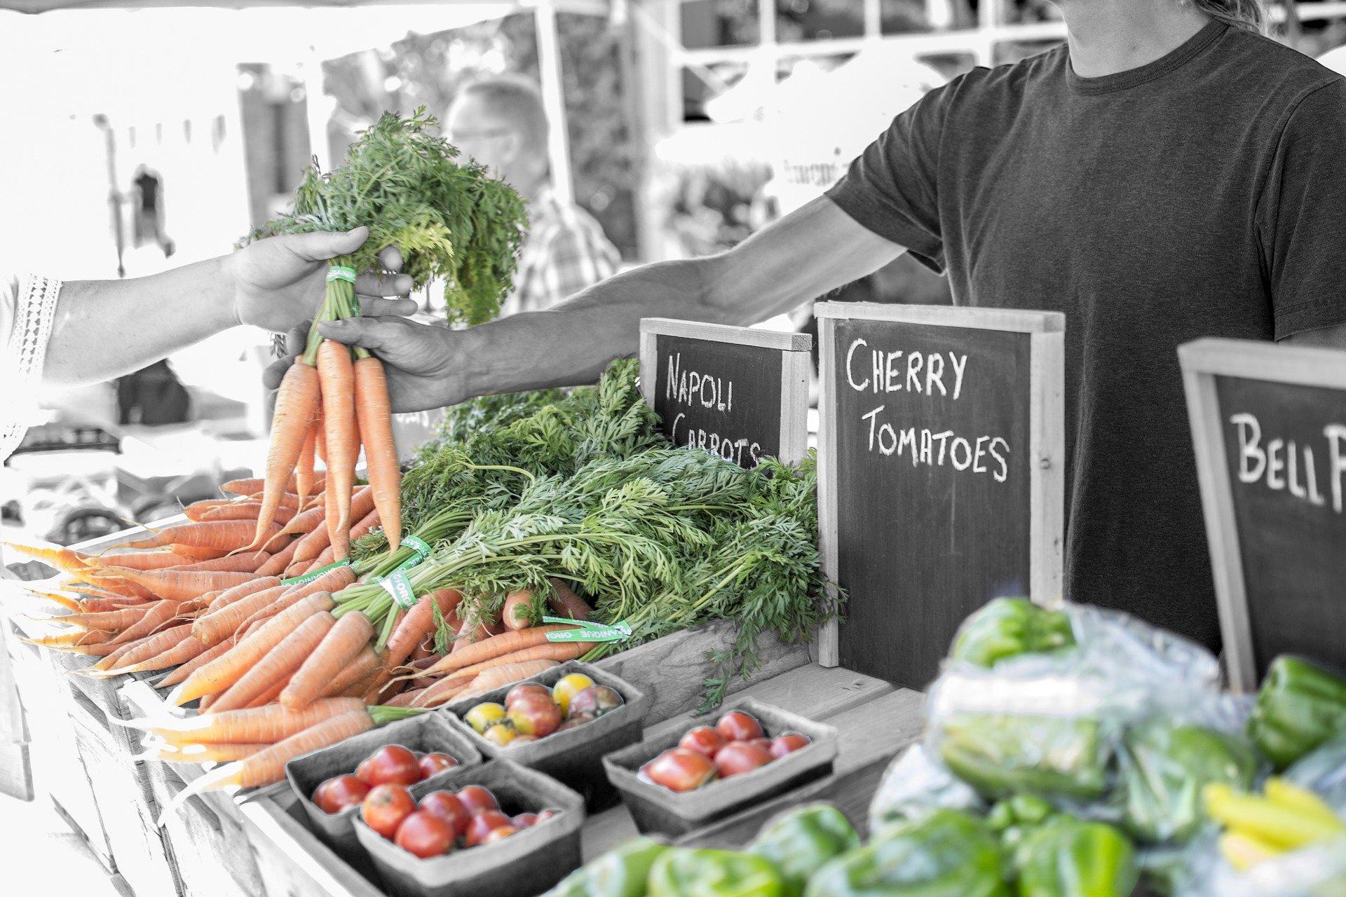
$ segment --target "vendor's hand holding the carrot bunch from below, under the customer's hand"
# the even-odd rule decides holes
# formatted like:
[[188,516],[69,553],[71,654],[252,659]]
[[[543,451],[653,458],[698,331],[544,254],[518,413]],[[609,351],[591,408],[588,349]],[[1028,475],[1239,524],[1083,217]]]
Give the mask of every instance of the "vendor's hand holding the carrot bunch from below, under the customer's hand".
[[[452,359],[459,331],[394,316],[323,321],[318,329],[327,339],[363,346],[382,359],[388,397],[394,412],[424,412],[466,398],[454,381]],[[295,356],[304,350],[307,339],[307,321],[289,332],[285,358],[267,368],[267,389],[280,386]]]

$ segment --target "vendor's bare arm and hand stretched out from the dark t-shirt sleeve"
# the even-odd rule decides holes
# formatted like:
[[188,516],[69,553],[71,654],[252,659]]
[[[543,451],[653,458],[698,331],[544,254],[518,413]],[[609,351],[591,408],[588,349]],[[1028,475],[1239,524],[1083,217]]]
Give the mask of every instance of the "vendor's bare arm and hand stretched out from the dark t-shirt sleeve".
[[[903,247],[820,198],[727,253],[660,262],[611,277],[545,312],[466,331],[402,319],[322,324],[388,364],[393,410],[472,395],[592,382],[635,351],[642,317],[751,324],[790,311],[896,258]],[[273,366],[275,385],[283,364]]]

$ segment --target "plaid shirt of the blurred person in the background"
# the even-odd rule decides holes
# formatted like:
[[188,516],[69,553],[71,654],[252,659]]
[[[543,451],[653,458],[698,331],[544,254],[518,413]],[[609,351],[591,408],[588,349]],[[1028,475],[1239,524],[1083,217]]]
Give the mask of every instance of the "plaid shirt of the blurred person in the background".
[[602,225],[544,187],[529,208],[532,226],[518,257],[514,293],[501,315],[537,312],[611,277],[622,261]]

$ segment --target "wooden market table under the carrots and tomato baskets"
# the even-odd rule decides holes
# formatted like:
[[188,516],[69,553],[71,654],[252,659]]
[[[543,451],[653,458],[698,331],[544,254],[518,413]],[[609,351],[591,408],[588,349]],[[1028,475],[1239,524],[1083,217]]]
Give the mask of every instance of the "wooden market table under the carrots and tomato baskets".
[[[102,550],[131,533],[82,549]],[[28,584],[39,586],[39,584]],[[9,602],[12,633],[30,637],[55,628],[23,616]],[[17,607],[17,612],[16,612]],[[50,605],[34,601],[31,609]],[[646,737],[686,726],[709,674],[708,651],[732,639],[728,623],[697,627],[599,662],[653,694]],[[206,767],[139,760],[139,733],[118,725],[163,713],[144,679],[92,679],[79,671],[93,659],[46,651],[7,639],[15,656],[35,763],[58,812],[81,834],[109,874],[137,897],[380,897],[381,892],[326,847],[308,828],[288,785],[195,796],[156,827],[166,807]],[[157,674],[156,674],[157,675]],[[822,667],[809,646],[763,637],[762,663],[731,694],[751,697],[839,730],[833,773],[759,807],[688,835],[686,843],[739,846],[762,822],[804,800],[825,799],[864,826],[870,799],[888,761],[921,733],[923,697],[848,671]],[[57,771],[61,775],[57,775]],[[71,775],[70,771],[75,771]],[[586,820],[586,861],[637,834],[625,807]]]

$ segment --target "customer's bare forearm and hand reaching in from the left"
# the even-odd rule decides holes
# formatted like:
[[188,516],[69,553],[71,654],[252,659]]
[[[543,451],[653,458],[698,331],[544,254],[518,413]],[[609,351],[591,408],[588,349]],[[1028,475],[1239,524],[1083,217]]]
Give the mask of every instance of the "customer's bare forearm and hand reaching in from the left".
[[[256,242],[232,256],[135,280],[67,281],[57,300],[43,382],[96,383],[136,371],[237,324],[285,331],[314,313],[327,261],[365,242],[347,234],[295,234]],[[366,313],[415,311],[409,278],[362,277]]]

